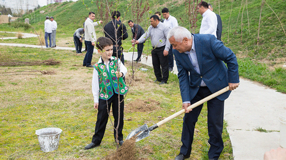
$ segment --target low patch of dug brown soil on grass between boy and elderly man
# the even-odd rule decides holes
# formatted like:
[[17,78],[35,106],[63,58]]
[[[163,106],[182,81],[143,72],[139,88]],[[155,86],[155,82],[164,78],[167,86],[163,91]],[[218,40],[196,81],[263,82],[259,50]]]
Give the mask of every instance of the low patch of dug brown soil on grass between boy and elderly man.
[[125,104],[124,112],[150,112],[159,108],[160,102],[153,99],[136,99],[132,102]]

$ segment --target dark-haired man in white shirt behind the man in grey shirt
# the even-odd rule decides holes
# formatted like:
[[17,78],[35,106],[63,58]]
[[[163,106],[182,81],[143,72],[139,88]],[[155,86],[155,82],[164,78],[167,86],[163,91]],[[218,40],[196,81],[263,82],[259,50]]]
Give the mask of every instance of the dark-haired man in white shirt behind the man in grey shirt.
[[[175,17],[169,14],[168,8],[162,9],[162,15],[165,18],[164,24],[168,26],[170,29],[173,27],[178,26],[178,21]],[[169,64],[169,71],[173,71],[174,67],[174,55],[173,55],[173,47],[170,45],[169,54],[168,54],[168,64]]]

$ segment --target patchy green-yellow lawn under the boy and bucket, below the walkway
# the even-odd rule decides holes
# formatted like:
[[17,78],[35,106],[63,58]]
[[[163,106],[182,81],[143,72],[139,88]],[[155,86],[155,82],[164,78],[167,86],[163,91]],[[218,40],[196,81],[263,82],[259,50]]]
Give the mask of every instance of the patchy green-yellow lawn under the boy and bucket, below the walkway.
[[[0,46],[0,60],[61,61],[52,66],[0,67],[0,154],[1,159],[102,159],[116,151],[110,121],[100,147],[84,150],[94,133],[97,111],[93,109],[92,68],[82,67],[84,54],[73,51]],[[93,62],[99,56],[94,55]],[[152,67],[138,71],[131,81],[131,63],[126,61],[130,86],[125,98],[124,138],[144,123],[151,126],[181,109],[178,78],[170,74],[167,85],[154,83]],[[54,71],[52,75],[3,75],[8,71],[37,69]],[[112,115],[112,112],[111,112]],[[162,116],[162,118],[158,118]],[[136,142],[136,159],[174,159],[181,145],[182,117],[153,130],[148,138]],[[113,119],[113,117],[112,117]],[[58,127],[63,130],[56,151],[40,150],[35,130]],[[190,159],[207,159],[206,106],[196,124]],[[225,148],[221,159],[233,159],[231,142],[223,129]]]

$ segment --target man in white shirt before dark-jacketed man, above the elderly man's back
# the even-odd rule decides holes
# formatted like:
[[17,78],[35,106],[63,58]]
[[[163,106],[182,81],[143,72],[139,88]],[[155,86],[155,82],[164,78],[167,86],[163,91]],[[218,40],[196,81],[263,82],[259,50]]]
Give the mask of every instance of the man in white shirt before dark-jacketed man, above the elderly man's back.
[[202,15],[200,34],[212,34],[217,37],[217,15],[208,9],[208,3],[200,2],[198,12]]

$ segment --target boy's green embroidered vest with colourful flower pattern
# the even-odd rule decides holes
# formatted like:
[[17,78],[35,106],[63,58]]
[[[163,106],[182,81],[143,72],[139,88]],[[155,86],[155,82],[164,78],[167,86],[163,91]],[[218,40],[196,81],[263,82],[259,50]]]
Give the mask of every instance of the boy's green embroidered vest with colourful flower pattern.
[[[122,77],[119,77],[119,84],[117,83],[117,77],[115,71],[117,71],[117,61],[118,59],[111,60],[109,65],[109,72],[104,63],[96,63],[94,68],[98,71],[98,82],[99,82],[99,98],[108,100],[115,93],[120,95],[125,95],[128,91],[128,87]],[[119,92],[118,92],[119,86]]]

